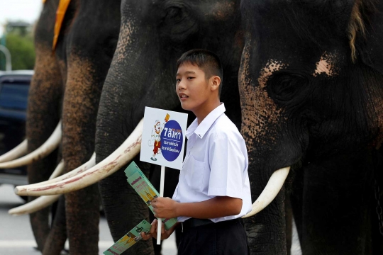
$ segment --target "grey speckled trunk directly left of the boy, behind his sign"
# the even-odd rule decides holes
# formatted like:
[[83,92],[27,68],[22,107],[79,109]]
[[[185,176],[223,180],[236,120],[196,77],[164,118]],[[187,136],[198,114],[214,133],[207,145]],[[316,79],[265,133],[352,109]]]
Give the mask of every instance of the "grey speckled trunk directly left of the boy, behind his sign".
[[[132,1],[126,1],[121,6],[133,8],[131,5],[134,5]],[[145,22],[134,17],[122,18],[120,38],[106,77],[97,116],[96,162],[109,157],[126,137],[132,137],[135,132],[133,129],[143,118],[145,106],[172,108],[172,102],[179,105],[172,86],[174,78],[161,68],[161,57],[157,50],[160,47],[159,42],[153,38],[155,32],[151,30],[150,24],[143,24]],[[143,69],[145,72],[142,72]],[[164,84],[168,85],[159,94],[159,89]],[[162,97],[162,93],[174,96]],[[149,164],[140,164],[138,158],[136,162],[143,173],[149,176]],[[118,166],[121,167],[123,165]],[[137,222],[149,220],[147,205],[126,183],[123,171],[116,171],[100,181],[99,188],[115,242],[126,234],[127,229],[137,225]],[[152,242],[138,242],[129,252],[152,254]]]

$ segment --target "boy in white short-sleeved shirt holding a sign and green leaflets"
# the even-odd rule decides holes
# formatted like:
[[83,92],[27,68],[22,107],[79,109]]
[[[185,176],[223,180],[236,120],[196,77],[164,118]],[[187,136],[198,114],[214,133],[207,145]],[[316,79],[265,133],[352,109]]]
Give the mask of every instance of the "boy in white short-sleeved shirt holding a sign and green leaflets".
[[[182,108],[196,120],[186,131],[187,154],[173,198],[152,201],[155,217],[178,217],[167,239],[181,225],[178,254],[247,254],[238,218],[250,212],[248,153],[245,141],[220,103],[222,67],[208,50],[190,50],[177,61],[176,92]],[[157,220],[150,234],[157,237]]]

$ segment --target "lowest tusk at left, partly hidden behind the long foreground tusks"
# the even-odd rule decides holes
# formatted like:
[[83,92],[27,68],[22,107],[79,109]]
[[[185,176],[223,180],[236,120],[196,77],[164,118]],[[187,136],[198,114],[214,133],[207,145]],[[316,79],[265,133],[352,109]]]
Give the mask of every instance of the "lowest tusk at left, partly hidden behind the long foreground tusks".
[[[55,171],[50,175],[49,179],[55,179],[57,176],[60,176],[62,174],[62,171],[64,170],[64,161],[61,161],[55,168]],[[25,215],[28,213],[37,212],[38,210],[41,210],[43,208],[46,208],[47,206],[51,205],[52,203],[55,203],[60,195],[54,195],[54,196],[40,196],[40,198],[36,198],[33,201],[30,201],[29,203],[26,203],[25,205],[18,206],[16,208],[12,208],[8,211],[10,215],[18,216],[18,215]]]

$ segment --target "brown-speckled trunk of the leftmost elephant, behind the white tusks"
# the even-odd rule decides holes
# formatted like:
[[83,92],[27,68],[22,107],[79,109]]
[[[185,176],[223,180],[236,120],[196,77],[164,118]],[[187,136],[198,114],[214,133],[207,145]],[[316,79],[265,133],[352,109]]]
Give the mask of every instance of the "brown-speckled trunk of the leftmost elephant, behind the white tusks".
[[[36,30],[39,33],[39,30]],[[37,35],[36,35],[37,37]],[[28,151],[38,149],[48,140],[60,119],[60,98],[62,96],[62,80],[59,67],[52,56],[50,45],[35,42],[36,62],[35,74],[30,83],[28,96],[28,113],[26,120],[26,137]],[[40,57],[41,56],[41,57]],[[42,57],[44,56],[44,57]],[[57,164],[57,151],[28,165],[28,182],[38,183],[50,176],[50,170]],[[29,201],[34,198],[28,198]],[[50,232],[49,208],[30,214],[30,223],[35,235],[38,249],[43,251],[45,240]]]

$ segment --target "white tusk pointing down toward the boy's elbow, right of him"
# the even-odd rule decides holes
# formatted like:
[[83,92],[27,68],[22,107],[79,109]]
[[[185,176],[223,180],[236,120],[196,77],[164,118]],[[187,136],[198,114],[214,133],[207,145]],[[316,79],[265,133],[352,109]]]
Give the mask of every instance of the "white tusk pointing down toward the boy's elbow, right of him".
[[277,171],[274,171],[274,173],[272,173],[272,176],[267,182],[266,187],[263,189],[262,193],[257,198],[257,200],[255,200],[255,202],[252,203],[251,212],[243,216],[243,218],[257,214],[261,210],[265,209],[267,205],[272,203],[272,200],[274,200],[274,198],[278,195],[279,191],[281,190],[284,181],[286,181],[289,171],[290,166],[278,169]]

